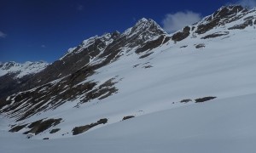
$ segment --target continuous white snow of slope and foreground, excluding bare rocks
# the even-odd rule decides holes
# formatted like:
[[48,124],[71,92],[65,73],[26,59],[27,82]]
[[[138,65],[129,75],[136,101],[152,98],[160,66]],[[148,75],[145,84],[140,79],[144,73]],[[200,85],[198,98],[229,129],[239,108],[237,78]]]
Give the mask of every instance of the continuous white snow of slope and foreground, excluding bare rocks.
[[[121,59],[87,79],[105,82],[114,77],[118,94],[73,108],[79,102],[78,97],[55,111],[32,116],[20,123],[44,117],[63,118],[64,122],[32,139],[3,130],[2,150],[254,152],[256,31],[248,26],[244,30],[230,30],[225,36],[201,39],[219,31],[229,30],[220,27],[181,42],[170,41],[143,59],[134,50],[124,52]],[[205,48],[195,48],[201,43]],[[218,98],[202,104],[179,103],[182,99],[205,96]],[[136,117],[120,122],[123,116],[130,115]],[[108,123],[68,138],[73,136],[73,127],[101,118],[108,118]],[[61,131],[50,134],[53,128]],[[49,140],[37,140],[46,137]],[[12,144],[15,147],[10,147]]]

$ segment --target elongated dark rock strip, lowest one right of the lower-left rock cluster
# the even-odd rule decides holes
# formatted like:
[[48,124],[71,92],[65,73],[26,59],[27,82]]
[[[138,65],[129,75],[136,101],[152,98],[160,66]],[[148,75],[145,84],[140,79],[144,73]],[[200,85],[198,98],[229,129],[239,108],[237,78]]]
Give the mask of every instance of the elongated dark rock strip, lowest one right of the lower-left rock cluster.
[[89,125],[80,126],[80,127],[74,127],[72,132],[73,132],[73,135],[78,135],[79,133],[84,133],[84,132],[88,131],[92,127],[96,127],[99,124],[105,124],[107,122],[108,122],[108,119],[107,118],[103,118],[103,119],[101,119],[101,120],[99,120],[97,122],[91,123]]

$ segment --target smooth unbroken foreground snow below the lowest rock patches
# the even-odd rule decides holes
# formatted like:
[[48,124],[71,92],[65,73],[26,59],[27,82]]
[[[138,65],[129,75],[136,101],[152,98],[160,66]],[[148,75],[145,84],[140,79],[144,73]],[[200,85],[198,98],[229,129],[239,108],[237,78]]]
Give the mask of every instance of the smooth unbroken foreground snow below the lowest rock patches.
[[[254,153],[256,94],[159,111],[67,139],[34,140],[0,130],[3,152]],[[3,118],[0,119],[3,124]]]

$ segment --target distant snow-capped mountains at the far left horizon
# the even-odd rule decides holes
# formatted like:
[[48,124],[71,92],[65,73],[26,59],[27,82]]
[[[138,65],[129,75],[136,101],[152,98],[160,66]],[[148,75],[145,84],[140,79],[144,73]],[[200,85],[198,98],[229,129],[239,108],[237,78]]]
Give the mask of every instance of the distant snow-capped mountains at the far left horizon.
[[15,78],[21,78],[26,75],[38,73],[43,71],[48,63],[43,61],[30,62],[27,61],[24,64],[16,63],[14,61],[0,64],[0,77],[6,74],[15,74]]

